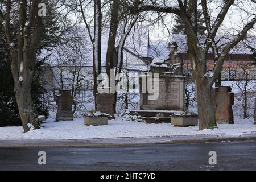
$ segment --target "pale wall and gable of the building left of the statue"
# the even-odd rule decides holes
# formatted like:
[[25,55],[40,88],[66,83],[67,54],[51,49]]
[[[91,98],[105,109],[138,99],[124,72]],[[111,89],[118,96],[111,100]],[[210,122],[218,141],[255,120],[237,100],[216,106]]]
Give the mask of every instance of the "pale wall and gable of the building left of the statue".
[[[72,66],[57,66],[54,65],[42,67],[43,73],[40,77],[40,81],[46,90],[60,90],[60,89],[71,89],[72,82],[79,81],[82,85],[81,90],[92,90],[93,89],[93,67],[92,66],[82,66],[82,67],[72,67]],[[137,74],[139,72],[145,71],[147,65],[137,56],[123,51],[123,69],[129,74]],[[74,75],[74,73],[76,73]],[[105,66],[102,65],[102,73],[106,73]],[[123,73],[125,73],[123,71]],[[62,80],[61,81],[61,77]],[[62,83],[63,82],[63,83]]]

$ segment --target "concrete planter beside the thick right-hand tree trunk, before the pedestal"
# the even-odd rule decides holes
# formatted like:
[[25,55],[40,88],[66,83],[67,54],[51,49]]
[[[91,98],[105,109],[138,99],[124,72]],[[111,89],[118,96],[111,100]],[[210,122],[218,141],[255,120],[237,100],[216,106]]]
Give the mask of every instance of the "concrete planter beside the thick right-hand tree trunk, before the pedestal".
[[194,126],[198,124],[198,117],[171,116],[171,124],[174,126]]

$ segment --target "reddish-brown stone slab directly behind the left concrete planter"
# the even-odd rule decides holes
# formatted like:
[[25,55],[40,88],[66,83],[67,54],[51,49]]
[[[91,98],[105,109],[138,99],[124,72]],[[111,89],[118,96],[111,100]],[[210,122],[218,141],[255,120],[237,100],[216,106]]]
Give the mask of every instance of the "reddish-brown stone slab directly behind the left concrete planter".
[[109,114],[109,119],[113,119],[115,115],[114,111],[114,94],[113,93],[97,93],[96,94],[96,103],[97,107],[96,110],[100,111],[101,113]]

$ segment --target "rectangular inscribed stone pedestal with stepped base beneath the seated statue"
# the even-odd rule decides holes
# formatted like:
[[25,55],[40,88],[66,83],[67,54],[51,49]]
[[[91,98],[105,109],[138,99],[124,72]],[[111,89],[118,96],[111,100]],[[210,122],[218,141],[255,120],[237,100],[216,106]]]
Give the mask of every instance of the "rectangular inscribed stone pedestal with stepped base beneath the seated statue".
[[[141,115],[148,123],[170,123],[170,116],[177,111],[184,110],[185,101],[185,76],[173,75],[171,73],[159,73],[159,78],[154,79],[150,74],[144,74],[140,80],[140,109],[132,110],[131,114],[135,112]],[[145,78],[146,77],[146,78]],[[150,99],[150,95],[156,93],[148,93],[148,79],[158,81],[158,88],[153,88],[155,92],[158,92],[158,97],[154,100]],[[142,81],[144,84],[142,84]],[[150,83],[151,84],[151,83]],[[154,83],[152,84],[154,85]],[[142,86],[146,88],[142,89]],[[147,90],[146,93],[142,93],[142,90]]]

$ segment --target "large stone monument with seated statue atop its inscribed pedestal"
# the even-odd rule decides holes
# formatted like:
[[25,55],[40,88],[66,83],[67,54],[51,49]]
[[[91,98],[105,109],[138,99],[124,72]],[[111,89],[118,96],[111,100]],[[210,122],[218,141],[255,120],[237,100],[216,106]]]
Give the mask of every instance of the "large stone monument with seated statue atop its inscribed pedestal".
[[[177,43],[169,43],[170,54],[165,59],[158,57],[152,60],[148,72],[144,72],[140,79],[140,109],[131,111],[138,113],[146,119],[146,122],[169,122],[170,115],[176,111],[184,110],[185,76],[183,75],[183,59],[177,51]],[[154,73],[158,73],[158,79],[154,79]],[[146,77],[146,78],[144,78]],[[148,88],[148,82],[142,84],[142,80],[152,79],[158,81],[158,98],[150,100],[150,93],[142,92],[142,86]]]

